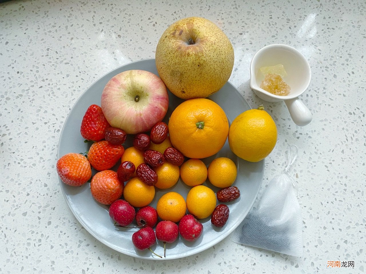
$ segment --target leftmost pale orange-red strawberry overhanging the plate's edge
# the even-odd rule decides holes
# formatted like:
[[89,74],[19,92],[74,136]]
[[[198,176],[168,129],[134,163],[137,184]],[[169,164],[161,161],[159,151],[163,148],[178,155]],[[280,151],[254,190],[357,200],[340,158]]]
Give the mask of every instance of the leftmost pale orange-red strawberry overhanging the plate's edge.
[[91,177],[88,159],[78,153],[68,153],[62,156],[57,161],[56,170],[61,181],[70,186],[81,186]]

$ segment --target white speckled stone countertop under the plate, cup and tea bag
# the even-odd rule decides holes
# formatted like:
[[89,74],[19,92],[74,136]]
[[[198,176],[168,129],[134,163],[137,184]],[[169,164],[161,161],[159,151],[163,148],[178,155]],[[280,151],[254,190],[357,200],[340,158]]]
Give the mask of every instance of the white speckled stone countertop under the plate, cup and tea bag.
[[[262,190],[298,146],[303,256],[232,241],[163,262],[120,254],[76,220],[55,171],[57,144],[76,100],[105,73],[153,58],[165,28],[202,16],[235,51],[229,81],[278,129]],[[0,4],[0,273],[364,273],[366,270],[366,7],[364,1],[9,1]],[[249,87],[254,53],[295,47],[312,70],[301,96],[313,121],[296,126],[283,102]],[[261,195],[262,190],[259,195]],[[354,267],[327,269],[327,261]]]

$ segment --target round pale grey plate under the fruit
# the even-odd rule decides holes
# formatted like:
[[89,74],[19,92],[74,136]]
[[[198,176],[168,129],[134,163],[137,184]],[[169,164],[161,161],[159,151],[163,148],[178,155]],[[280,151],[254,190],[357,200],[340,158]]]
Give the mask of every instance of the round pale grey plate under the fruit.
[[[90,144],[85,144],[84,139],[80,134],[80,125],[86,109],[91,104],[98,104],[100,106],[102,90],[109,79],[120,72],[130,69],[143,69],[158,74],[155,59],[148,59],[132,62],[116,68],[92,84],[80,96],[68,114],[60,136],[57,159],[69,152],[79,153],[89,149]],[[230,124],[237,115],[250,109],[249,104],[244,100],[240,92],[230,83],[226,83],[219,92],[210,96],[209,99],[212,99],[223,108]],[[169,109],[164,119],[166,123],[168,122],[168,118],[172,111],[181,102],[183,102],[182,99],[179,99],[169,92]],[[133,136],[128,136],[124,144],[125,148],[132,145],[132,137]],[[214,227],[211,224],[210,217],[200,220],[203,224],[203,233],[201,237],[193,243],[179,237],[174,243],[167,244],[166,259],[183,258],[212,247],[238,227],[253,206],[263,178],[264,160],[258,163],[250,163],[236,157],[231,152],[228,141],[226,141],[224,147],[216,155],[202,160],[208,165],[216,157],[229,157],[236,163],[238,167],[238,176],[233,186],[239,188],[241,194],[240,198],[236,201],[226,203],[229,206],[230,215],[223,228]],[[118,164],[114,167],[114,170],[116,170],[117,167]],[[96,239],[123,254],[137,258],[161,260],[152,255],[149,250],[139,251],[134,248],[131,237],[133,232],[137,231],[137,229],[115,227],[113,221],[109,217],[108,206],[96,202],[91,196],[89,183],[86,183],[81,187],[71,187],[61,182],[61,180],[59,181],[61,190],[72,213],[74,213],[74,216],[80,224]],[[206,181],[204,185],[211,187],[215,193],[218,190],[217,187],[212,186],[208,181]],[[178,183],[170,189],[156,190],[155,198],[150,204],[154,207],[156,206],[158,199],[169,191],[176,191],[182,194],[183,197],[187,197],[190,187],[179,180]],[[157,254],[163,255],[164,249],[161,242],[158,241],[152,249]]]

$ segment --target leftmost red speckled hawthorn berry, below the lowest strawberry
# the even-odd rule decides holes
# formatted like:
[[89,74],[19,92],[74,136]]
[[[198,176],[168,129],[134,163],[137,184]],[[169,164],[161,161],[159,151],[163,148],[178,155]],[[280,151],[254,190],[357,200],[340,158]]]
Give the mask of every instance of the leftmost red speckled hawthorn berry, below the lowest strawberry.
[[135,208],[122,199],[114,201],[109,207],[109,216],[122,227],[131,224],[135,219],[135,214]]

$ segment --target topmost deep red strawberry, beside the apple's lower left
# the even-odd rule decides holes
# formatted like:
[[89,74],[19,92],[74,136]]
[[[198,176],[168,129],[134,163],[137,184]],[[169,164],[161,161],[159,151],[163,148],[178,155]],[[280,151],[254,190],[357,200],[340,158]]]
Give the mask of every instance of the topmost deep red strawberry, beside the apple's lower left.
[[105,129],[110,126],[104,117],[102,108],[96,104],[92,104],[86,110],[81,121],[80,133],[86,140],[100,141],[104,139]]

